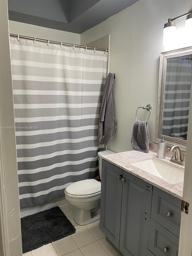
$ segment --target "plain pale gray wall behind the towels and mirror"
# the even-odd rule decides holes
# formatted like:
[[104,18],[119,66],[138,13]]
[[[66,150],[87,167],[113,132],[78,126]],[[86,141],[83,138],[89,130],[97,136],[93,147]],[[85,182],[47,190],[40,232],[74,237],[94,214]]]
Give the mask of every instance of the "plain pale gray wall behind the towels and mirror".
[[[131,133],[137,107],[152,105],[150,141],[155,141],[159,57],[165,51],[163,27],[168,18],[191,9],[191,0],[142,0],[81,34],[85,45],[110,34],[109,70],[116,73],[114,95],[117,130],[107,149],[132,150]],[[177,25],[184,27],[184,20]],[[139,112],[138,112],[139,113]],[[146,119],[148,111],[140,110]]]

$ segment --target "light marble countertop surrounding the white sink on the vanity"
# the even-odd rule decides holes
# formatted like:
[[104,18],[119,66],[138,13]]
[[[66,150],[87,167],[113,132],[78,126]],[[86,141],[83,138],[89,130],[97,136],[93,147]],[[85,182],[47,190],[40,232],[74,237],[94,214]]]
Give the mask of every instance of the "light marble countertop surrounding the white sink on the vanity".
[[156,158],[159,161],[166,162],[167,164],[170,164],[172,166],[175,166],[179,169],[182,169],[184,171],[184,167],[170,162],[170,158],[166,157],[164,159],[157,158],[157,153],[149,151],[149,153],[143,153],[139,151],[126,151],[126,152],[120,152],[115,153],[111,155],[105,155],[102,156],[102,158],[111,164],[116,165],[117,167],[125,170],[128,173],[133,174],[134,176],[143,179],[144,181],[150,183],[151,185],[160,188],[161,190],[164,190],[165,192],[182,199],[183,196],[183,182],[179,182],[176,184],[172,184],[170,182],[167,182],[166,180],[163,180],[159,177],[156,177],[146,171],[143,171],[130,163],[140,161],[140,160],[146,160],[150,158]]

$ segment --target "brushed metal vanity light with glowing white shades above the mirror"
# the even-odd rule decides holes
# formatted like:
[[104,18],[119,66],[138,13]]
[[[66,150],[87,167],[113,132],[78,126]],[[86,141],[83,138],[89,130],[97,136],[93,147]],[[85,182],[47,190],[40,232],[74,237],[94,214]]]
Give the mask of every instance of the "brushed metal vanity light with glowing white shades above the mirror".
[[176,39],[176,23],[174,20],[177,20],[179,18],[182,18],[184,16],[187,16],[187,19],[185,20],[185,29],[190,30],[190,34],[192,31],[192,10],[189,12],[182,14],[175,18],[169,18],[168,22],[164,24],[164,33],[163,33],[163,44],[167,45],[171,42],[174,42]]

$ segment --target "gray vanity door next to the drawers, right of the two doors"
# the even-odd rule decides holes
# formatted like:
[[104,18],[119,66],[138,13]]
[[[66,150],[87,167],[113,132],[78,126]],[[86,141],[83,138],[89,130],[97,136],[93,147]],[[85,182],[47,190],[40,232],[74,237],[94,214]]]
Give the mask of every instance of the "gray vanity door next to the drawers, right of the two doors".
[[124,171],[119,250],[125,256],[147,256],[152,185]]

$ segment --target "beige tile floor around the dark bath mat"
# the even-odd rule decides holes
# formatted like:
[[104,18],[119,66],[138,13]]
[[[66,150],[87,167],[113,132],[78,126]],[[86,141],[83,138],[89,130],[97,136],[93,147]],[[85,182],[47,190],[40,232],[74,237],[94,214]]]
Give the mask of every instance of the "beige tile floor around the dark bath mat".
[[104,233],[99,229],[99,221],[79,226],[73,220],[72,206],[70,208],[65,205],[60,208],[76,228],[76,233],[24,253],[23,256],[120,256],[106,241]]

